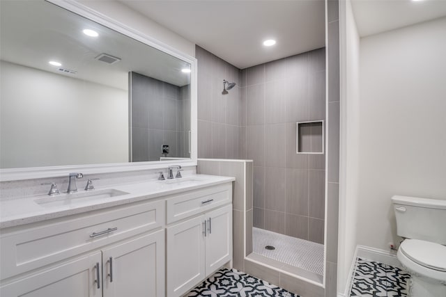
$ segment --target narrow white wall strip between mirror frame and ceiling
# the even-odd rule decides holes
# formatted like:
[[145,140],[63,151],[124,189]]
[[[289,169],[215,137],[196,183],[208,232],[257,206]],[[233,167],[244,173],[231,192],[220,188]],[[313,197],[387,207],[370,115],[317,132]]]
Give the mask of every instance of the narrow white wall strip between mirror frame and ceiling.
[[130,26],[132,29],[136,29],[170,47],[183,51],[183,53],[188,54],[189,56],[195,56],[195,45],[193,42],[190,42],[177,33],[174,33],[174,31],[170,31],[166,27],[157,24],[148,17],[125,6],[123,3],[119,3],[118,1],[78,1],[107,17],[111,17],[126,26]]

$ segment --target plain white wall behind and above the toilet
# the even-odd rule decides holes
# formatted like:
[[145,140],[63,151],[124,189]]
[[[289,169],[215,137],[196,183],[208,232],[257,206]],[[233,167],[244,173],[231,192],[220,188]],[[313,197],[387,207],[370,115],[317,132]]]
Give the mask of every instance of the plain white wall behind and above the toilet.
[[446,17],[360,42],[357,243],[398,243],[392,195],[446,200]]

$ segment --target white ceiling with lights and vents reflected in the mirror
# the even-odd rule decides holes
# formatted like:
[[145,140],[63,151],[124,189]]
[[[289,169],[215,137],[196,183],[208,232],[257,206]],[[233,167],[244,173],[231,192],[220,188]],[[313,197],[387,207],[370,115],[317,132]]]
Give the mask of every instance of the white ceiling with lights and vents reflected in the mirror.
[[[46,1],[3,1],[0,30],[1,60],[72,78],[128,88],[128,72],[166,81],[176,86],[190,83],[190,74],[180,70],[189,63],[144,45],[89,19],[70,13]],[[83,29],[98,31],[91,38]],[[121,61],[109,65],[95,60],[106,53]],[[77,74],[60,72],[48,61],[60,61],[63,68]]]

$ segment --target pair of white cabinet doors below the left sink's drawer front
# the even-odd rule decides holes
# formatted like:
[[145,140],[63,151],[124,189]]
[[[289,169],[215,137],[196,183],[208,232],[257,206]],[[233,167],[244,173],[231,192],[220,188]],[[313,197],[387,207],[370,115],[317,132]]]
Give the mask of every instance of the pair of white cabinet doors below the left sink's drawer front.
[[0,296],[164,297],[164,230],[12,282]]

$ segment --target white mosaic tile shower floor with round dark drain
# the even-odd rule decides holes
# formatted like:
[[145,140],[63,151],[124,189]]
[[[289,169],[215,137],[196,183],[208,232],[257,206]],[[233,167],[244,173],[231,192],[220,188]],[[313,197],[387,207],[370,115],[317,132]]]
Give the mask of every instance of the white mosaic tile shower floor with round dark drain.
[[[323,275],[323,244],[252,228],[253,252],[276,261]],[[267,250],[274,246],[275,250]]]

